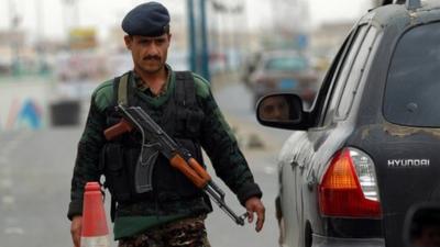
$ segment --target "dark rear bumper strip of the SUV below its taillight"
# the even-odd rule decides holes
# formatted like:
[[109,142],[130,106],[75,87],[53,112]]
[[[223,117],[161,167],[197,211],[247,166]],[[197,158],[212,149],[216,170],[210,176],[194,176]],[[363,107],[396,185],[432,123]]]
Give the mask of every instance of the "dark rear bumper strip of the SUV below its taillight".
[[336,238],[315,235],[311,247],[385,247],[383,238]]

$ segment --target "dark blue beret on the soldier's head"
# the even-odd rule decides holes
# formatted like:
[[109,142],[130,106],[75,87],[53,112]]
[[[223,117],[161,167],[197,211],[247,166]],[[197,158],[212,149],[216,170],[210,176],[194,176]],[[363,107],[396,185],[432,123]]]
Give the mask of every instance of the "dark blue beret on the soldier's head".
[[125,15],[122,30],[129,35],[161,36],[169,30],[168,10],[158,2],[142,3]]

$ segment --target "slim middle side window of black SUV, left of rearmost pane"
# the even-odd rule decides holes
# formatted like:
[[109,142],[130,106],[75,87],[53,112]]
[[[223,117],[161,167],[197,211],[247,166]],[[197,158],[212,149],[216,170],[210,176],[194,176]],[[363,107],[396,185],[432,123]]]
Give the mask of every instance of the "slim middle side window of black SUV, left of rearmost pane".
[[329,103],[329,106],[326,112],[326,119],[324,119],[323,125],[329,124],[331,122],[331,120],[333,119],[336,105],[339,102],[339,98],[340,98],[341,91],[344,87],[344,82],[346,80],[346,77],[349,76],[350,68],[353,64],[353,59],[354,59],[355,55],[358,54],[361,42],[362,42],[363,37],[365,36],[366,30],[367,30],[366,25],[359,27],[359,30],[355,34],[355,37],[353,40],[353,43],[350,47],[350,50],[345,55],[345,58],[342,61],[343,64],[341,65],[340,70],[337,74],[338,78],[336,79],[334,86],[333,86],[336,88],[331,92],[331,99],[330,99],[330,103]]

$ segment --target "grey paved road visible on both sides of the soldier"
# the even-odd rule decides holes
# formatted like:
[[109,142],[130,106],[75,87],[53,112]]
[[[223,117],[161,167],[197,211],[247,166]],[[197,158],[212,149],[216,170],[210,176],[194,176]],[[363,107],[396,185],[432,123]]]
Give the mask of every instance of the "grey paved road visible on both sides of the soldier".
[[[255,123],[250,96],[240,85],[217,90],[216,98],[237,130],[250,167],[264,191],[267,221],[263,232],[256,234],[253,225],[237,226],[215,209],[207,221],[211,244],[215,247],[276,246],[275,155],[286,133]],[[67,127],[0,133],[0,247],[72,246],[66,209],[80,132],[81,127]],[[248,148],[246,138],[254,134],[270,145],[265,149]],[[224,190],[231,207],[238,213],[244,212],[235,197]]]

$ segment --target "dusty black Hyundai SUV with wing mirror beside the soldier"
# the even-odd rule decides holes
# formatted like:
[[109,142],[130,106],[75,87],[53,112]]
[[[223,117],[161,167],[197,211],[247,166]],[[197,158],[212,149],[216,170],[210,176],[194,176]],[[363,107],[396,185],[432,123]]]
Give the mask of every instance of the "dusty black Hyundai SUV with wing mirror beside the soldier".
[[440,1],[369,11],[311,110],[278,93],[256,111],[296,130],[278,157],[283,246],[403,247],[408,209],[440,201]]

